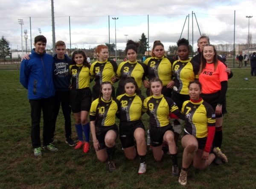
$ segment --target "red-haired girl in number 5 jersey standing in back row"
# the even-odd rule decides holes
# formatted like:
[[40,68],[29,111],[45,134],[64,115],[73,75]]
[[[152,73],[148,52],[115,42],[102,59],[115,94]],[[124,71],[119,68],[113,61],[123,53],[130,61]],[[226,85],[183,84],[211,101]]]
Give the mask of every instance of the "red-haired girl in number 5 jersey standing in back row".
[[[95,85],[93,86],[93,99],[99,98],[100,85],[102,82],[116,81],[115,73],[117,70],[117,64],[113,60],[108,60],[108,47],[107,45],[98,45],[95,48],[98,60],[93,62],[90,67],[90,81],[94,79]],[[113,87],[112,97],[115,97],[115,89]]]

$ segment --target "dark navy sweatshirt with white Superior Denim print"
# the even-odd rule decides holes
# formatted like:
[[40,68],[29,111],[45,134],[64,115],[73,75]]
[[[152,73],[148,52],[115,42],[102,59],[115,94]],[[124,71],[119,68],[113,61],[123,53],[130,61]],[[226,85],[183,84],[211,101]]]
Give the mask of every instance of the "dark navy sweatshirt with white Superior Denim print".
[[53,71],[53,83],[55,91],[67,91],[70,90],[70,74],[69,66],[71,64],[71,58],[64,55],[64,59],[57,58],[57,54],[53,55],[54,59],[54,71]]

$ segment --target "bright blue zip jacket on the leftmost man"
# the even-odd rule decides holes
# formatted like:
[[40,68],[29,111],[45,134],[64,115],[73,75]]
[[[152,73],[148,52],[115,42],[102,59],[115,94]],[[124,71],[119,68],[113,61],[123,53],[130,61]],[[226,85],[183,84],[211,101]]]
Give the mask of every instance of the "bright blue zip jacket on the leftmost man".
[[20,64],[20,83],[28,90],[28,99],[46,99],[55,95],[52,81],[53,57],[50,54],[38,54],[32,50],[29,60]]

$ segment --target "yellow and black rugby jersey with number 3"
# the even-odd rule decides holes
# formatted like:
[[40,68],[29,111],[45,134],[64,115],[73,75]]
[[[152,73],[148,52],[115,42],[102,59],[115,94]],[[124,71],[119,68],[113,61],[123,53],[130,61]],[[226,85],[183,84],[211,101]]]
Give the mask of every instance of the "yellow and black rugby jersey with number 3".
[[124,87],[125,79],[128,76],[134,77],[139,89],[141,88],[142,82],[145,76],[148,74],[148,68],[145,64],[141,62],[121,62],[116,71],[116,79],[120,79],[119,86]]

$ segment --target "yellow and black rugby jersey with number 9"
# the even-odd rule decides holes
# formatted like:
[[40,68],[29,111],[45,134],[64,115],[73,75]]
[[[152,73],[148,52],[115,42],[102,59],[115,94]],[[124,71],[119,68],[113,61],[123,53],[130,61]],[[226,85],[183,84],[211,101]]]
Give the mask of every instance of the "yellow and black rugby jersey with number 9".
[[142,110],[149,115],[149,125],[151,127],[167,126],[170,123],[168,119],[169,113],[175,113],[176,116],[184,119],[175,102],[171,98],[163,95],[159,97],[149,96],[146,98]]

